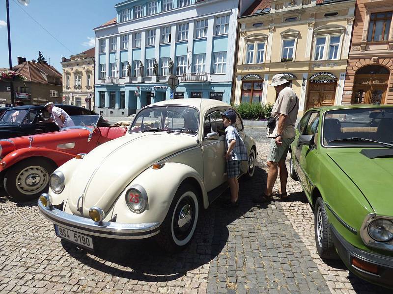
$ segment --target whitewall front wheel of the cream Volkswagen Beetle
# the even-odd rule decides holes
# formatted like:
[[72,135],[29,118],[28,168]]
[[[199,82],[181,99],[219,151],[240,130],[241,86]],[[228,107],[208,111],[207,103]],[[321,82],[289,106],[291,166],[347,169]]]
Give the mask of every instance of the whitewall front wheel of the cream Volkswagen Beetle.
[[176,192],[163,221],[158,242],[169,252],[185,248],[194,236],[199,215],[197,190],[188,184]]

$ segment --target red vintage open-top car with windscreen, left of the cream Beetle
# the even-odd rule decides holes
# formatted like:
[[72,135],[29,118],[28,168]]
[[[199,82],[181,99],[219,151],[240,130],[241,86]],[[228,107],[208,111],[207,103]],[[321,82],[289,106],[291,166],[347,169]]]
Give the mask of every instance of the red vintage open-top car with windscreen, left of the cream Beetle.
[[57,132],[0,140],[0,182],[15,201],[38,197],[57,167],[123,136],[122,126],[96,127],[99,116],[71,116],[75,126]]

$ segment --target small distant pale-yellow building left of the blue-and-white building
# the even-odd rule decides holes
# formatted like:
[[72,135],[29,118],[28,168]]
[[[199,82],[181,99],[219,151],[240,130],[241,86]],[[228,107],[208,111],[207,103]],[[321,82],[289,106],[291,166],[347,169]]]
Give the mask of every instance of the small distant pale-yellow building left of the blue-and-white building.
[[94,110],[95,48],[62,57],[63,103]]

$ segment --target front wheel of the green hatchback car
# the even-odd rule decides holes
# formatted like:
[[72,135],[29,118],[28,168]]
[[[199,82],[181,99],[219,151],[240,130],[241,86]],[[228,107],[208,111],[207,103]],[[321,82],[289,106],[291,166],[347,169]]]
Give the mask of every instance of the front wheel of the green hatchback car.
[[321,258],[336,259],[337,253],[333,243],[333,233],[330,229],[326,213],[325,201],[318,197],[314,210],[315,244]]

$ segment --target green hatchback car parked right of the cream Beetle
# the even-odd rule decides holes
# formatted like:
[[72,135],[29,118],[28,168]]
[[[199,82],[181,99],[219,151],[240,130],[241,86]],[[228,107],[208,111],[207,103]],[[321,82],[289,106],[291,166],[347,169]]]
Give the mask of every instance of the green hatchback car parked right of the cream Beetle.
[[356,275],[393,288],[393,107],[309,109],[290,152],[290,176],[314,209],[319,255],[338,253]]

